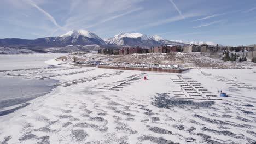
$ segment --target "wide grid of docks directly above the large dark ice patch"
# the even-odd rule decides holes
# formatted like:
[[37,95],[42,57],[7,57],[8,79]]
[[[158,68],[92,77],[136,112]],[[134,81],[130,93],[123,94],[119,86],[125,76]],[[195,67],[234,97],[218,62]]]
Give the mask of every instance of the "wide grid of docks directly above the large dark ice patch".
[[195,99],[195,100],[222,100],[217,95],[212,94],[202,84],[189,77],[177,75],[179,79],[172,79],[177,85],[180,85],[181,91],[173,91],[177,99]]

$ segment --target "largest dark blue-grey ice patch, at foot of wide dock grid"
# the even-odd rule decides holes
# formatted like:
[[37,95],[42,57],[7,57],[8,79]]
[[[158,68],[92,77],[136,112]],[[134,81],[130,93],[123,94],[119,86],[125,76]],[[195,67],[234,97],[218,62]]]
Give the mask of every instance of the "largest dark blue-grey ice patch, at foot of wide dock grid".
[[202,102],[194,102],[190,100],[178,100],[178,99],[167,99],[170,98],[168,94],[162,93],[155,96],[154,101],[152,104],[159,108],[172,108],[172,107],[187,107],[191,106],[193,108],[208,108],[211,107],[214,104],[214,101],[202,101]]

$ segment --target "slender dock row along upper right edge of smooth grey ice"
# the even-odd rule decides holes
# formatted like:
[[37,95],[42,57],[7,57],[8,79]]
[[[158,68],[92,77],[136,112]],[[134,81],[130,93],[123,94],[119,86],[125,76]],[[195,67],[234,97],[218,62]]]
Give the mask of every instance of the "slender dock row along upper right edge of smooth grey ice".
[[63,73],[63,74],[32,76],[32,77],[27,77],[27,79],[44,80],[44,79],[51,79],[51,78],[53,78],[53,77],[59,77],[59,76],[67,76],[67,75],[73,75],[73,74],[86,73],[86,72],[89,72],[89,71],[92,71],[92,70],[94,70],[94,69],[80,70],[80,71],[74,71],[74,72]]

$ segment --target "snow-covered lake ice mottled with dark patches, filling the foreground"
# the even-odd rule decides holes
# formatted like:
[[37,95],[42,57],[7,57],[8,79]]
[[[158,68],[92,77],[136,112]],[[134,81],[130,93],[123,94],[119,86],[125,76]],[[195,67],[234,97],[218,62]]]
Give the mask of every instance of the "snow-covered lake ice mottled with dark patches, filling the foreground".
[[[21,77],[59,83],[0,117],[0,143],[255,143],[253,70],[142,74],[84,67],[26,74]],[[177,99],[179,77],[222,100]],[[219,97],[218,90],[228,97]]]

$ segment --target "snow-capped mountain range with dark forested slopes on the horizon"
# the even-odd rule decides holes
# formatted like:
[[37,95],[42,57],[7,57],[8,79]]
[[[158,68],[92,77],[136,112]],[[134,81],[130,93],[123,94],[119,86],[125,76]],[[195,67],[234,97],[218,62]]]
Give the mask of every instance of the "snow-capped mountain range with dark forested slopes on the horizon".
[[208,44],[215,45],[212,42],[198,42],[192,41],[185,43],[184,41],[167,40],[157,35],[148,37],[141,33],[120,33],[112,38],[101,39],[95,33],[86,30],[73,30],[69,31],[59,37],[45,37],[38,39],[18,39],[18,38],[5,38],[0,39],[0,46],[14,47],[19,49],[30,49],[30,50],[45,50],[53,47],[67,46],[87,46],[97,45],[100,47],[152,47],[160,45],[188,45],[188,44]]

